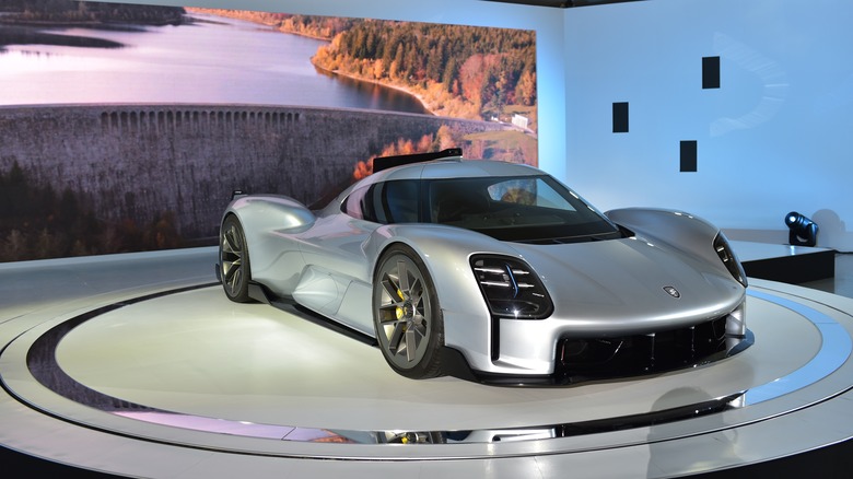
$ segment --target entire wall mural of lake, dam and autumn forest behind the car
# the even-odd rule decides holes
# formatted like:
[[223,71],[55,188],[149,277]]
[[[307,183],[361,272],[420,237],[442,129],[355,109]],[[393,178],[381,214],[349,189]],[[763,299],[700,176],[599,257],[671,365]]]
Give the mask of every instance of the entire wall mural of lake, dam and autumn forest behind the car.
[[379,155],[537,164],[531,31],[0,0],[0,261],[215,244]]

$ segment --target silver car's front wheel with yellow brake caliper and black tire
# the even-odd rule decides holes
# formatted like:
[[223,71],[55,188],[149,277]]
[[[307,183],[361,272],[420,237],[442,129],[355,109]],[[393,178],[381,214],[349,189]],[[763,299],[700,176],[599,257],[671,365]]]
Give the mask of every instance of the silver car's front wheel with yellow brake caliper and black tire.
[[432,278],[410,247],[390,246],[373,274],[373,324],[385,361],[413,379],[443,375],[444,319]]

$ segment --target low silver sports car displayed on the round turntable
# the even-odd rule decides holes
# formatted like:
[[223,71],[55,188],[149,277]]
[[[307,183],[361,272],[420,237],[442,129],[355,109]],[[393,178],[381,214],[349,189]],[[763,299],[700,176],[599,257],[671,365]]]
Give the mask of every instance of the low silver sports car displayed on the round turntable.
[[235,195],[225,294],[358,331],[411,378],[573,384],[751,343],[747,279],[717,227],[679,211],[603,214],[537,168],[460,154],[375,159],[318,210]]

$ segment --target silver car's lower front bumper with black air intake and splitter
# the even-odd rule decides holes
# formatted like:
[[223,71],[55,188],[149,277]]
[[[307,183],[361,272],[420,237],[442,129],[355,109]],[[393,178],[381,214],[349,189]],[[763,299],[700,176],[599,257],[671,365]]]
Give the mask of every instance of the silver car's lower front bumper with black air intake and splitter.
[[491,358],[445,348],[443,367],[453,376],[496,385],[569,385],[696,367],[753,343],[745,307],[741,303],[729,314],[698,324],[624,335],[546,332],[536,330],[542,322],[494,319]]

